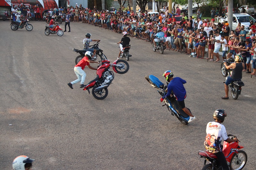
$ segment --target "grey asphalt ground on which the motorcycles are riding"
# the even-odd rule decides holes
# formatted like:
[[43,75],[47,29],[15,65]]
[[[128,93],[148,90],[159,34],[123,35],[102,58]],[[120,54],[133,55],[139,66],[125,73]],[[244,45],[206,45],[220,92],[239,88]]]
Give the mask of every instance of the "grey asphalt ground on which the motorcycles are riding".
[[[248,155],[244,169],[255,169],[255,77],[243,72],[238,100],[222,100],[220,63],[173,51],[161,55],[149,42],[131,38],[130,70],[115,73],[108,97],[96,100],[79,84],[73,90],[67,85],[76,79],[72,48],[83,48],[91,33],[113,62],[122,36],[73,22],[70,33],[46,36],[44,22],[31,24],[31,32],[12,31],[9,21],[0,21],[0,169],[11,169],[19,155],[36,159],[34,170],[201,169],[197,152],[204,151],[206,124],[218,108],[226,109],[227,132],[237,135]],[[187,81],[185,104],[196,116],[187,126],[162,107],[144,78],[153,74],[165,82],[165,70]],[[85,72],[85,84],[96,77],[95,70]]]

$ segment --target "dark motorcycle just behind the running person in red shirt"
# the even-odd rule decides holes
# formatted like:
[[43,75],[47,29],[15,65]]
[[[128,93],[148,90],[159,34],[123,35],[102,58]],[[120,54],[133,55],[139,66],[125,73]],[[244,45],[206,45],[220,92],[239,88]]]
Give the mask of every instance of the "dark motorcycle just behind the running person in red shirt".
[[[100,56],[100,59],[101,59],[101,60],[107,60],[107,57],[106,57],[106,55],[104,55],[104,54],[102,53],[103,50],[100,49],[99,44],[100,44],[99,41],[95,41],[95,42],[93,43],[93,45],[89,46],[89,47],[91,47],[91,48],[93,48],[93,49],[96,49],[95,55],[93,56],[92,59],[90,59],[90,60],[92,60],[92,61],[96,61],[98,56]],[[73,51],[75,51],[76,53],[79,53],[79,54],[80,54],[80,55],[78,55],[78,56],[76,57],[76,60],[75,60],[75,63],[77,64],[77,63],[80,62],[80,60],[82,60],[82,59],[84,58],[84,55],[85,55],[85,53],[86,53],[86,50],[79,50],[79,49],[73,48]]]

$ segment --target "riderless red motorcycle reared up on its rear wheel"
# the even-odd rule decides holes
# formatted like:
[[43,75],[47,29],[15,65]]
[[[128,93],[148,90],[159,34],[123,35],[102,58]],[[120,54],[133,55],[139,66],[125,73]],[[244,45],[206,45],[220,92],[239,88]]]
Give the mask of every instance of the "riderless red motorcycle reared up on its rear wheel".
[[92,88],[92,96],[97,100],[103,100],[108,96],[108,86],[114,79],[114,72],[109,70],[109,67],[113,67],[113,70],[118,74],[124,74],[129,70],[129,64],[124,60],[116,60],[113,64],[110,64],[109,60],[102,60],[97,68],[97,77],[84,86],[84,90]]

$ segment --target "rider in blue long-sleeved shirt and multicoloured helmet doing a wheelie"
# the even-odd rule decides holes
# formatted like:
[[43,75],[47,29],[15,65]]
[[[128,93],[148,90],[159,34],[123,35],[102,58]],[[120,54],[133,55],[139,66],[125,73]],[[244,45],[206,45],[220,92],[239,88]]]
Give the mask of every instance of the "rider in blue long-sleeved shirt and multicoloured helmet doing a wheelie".
[[183,80],[182,78],[179,78],[179,77],[175,77],[175,78],[172,78],[173,77],[173,73],[171,70],[167,70],[164,72],[163,74],[163,77],[166,78],[166,80],[169,83],[168,87],[167,87],[167,94],[165,94],[165,96],[163,96],[160,101],[162,102],[164,100],[164,98],[166,96],[170,96],[171,95],[171,92],[174,93],[174,95],[176,96],[176,99],[178,101],[178,105],[179,107],[187,114],[189,115],[189,120],[188,120],[188,123],[195,120],[196,117],[193,116],[191,114],[191,112],[188,110],[187,107],[185,107],[185,102],[184,100],[186,99],[187,97],[187,93],[186,93],[186,89],[184,88],[184,85],[185,83],[187,83],[185,80]]

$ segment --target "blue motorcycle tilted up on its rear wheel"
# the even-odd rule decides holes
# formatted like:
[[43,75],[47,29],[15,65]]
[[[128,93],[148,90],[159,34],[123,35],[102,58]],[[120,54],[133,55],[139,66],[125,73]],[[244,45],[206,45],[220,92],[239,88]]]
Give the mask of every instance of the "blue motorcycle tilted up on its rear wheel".
[[[167,85],[162,83],[157,77],[153,75],[149,75],[145,77],[146,80],[150,83],[151,86],[158,89],[157,92],[162,96],[167,93]],[[177,119],[184,125],[188,124],[189,116],[179,107],[176,97],[174,96],[173,92],[171,92],[170,96],[167,96],[164,100],[164,105],[168,108],[168,111],[171,115],[175,115]],[[188,108],[190,111],[190,109]]]

